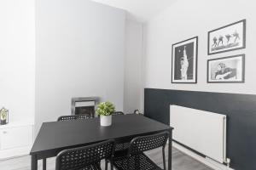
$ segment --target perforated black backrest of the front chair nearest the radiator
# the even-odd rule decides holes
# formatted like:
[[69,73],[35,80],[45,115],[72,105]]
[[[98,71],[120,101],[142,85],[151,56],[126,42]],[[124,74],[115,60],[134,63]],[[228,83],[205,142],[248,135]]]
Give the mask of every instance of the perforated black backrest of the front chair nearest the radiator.
[[138,155],[147,150],[154,150],[159,147],[166,147],[169,133],[155,133],[148,136],[141,136],[131,140],[128,156]]

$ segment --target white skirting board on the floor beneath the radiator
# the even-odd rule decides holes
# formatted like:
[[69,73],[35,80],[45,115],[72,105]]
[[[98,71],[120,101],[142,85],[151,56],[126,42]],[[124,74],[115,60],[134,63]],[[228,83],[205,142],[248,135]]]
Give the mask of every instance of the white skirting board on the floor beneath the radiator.
[[212,159],[205,158],[195,154],[195,152],[184,148],[182,145],[177,144],[176,142],[172,141],[172,146],[177,150],[180,150],[184,154],[193,157],[195,160],[200,161],[201,163],[205,164],[207,167],[211,167],[214,170],[234,170],[230,167],[226,167],[223,164],[218,163],[217,161],[213,161]]

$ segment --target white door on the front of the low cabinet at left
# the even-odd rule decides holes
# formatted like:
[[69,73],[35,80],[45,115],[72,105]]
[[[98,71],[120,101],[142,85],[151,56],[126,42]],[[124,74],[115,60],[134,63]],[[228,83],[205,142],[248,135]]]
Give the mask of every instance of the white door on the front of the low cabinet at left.
[[1,150],[32,144],[32,126],[4,128],[0,133]]

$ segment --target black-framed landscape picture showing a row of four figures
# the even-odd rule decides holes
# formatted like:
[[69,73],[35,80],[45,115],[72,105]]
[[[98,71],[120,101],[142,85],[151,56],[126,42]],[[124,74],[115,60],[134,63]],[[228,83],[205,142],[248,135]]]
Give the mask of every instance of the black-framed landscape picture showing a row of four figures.
[[246,20],[208,32],[208,55],[246,48]]

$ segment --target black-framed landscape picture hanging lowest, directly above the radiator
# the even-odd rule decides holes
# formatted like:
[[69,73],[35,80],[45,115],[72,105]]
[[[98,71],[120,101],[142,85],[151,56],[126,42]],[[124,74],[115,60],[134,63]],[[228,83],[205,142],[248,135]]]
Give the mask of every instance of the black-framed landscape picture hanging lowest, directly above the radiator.
[[245,54],[209,59],[207,82],[244,82]]

